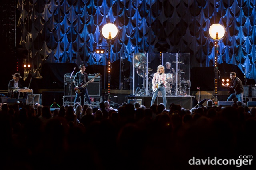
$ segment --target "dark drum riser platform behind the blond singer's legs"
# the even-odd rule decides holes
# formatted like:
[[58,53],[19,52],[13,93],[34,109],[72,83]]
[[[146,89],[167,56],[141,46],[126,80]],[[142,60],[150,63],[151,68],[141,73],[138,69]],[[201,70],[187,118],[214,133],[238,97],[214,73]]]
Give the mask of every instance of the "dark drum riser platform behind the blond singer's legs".
[[[142,99],[142,105],[146,106],[147,108],[150,108],[152,96],[129,95],[129,96],[126,96],[126,99],[127,99],[126,103],[131,103],[131,102],[134,103],[135,102],[134,99]],[[191,109],[192,107],[194,107],[193,105],[194,99],[195,98],[192,96],[166,96],[166,100],[167,100],[166,109],[169,109],[169,106],[171,103],[174,103],[176,105],[181,105],[181,107],[184,107],[185,109]],[[155,100],[155,104],[160,104],[160,103],[163,103],[162,96],[159,96],[158,100],[157,98]]]

